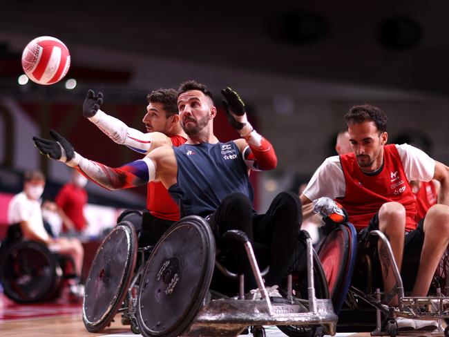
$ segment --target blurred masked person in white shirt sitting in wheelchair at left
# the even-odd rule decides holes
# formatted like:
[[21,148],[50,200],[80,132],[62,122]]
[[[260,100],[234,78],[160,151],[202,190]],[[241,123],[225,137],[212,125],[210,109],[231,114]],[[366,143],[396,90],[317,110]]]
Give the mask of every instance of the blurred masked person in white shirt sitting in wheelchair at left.
[[42,220],[41,198],[44,192],[45,177],[41,171],[25,173],[23,191],[10,201],[8,205],[8,222],[10,225],[19,224],[23,238],[35,240],[45,244],[50,251],[66,254],[75,262],[77,278],[70,280],[70,291],[75,296],[82,296],[81,272],[84,258],[84,249],[76,238],[51,238],[44,229]]

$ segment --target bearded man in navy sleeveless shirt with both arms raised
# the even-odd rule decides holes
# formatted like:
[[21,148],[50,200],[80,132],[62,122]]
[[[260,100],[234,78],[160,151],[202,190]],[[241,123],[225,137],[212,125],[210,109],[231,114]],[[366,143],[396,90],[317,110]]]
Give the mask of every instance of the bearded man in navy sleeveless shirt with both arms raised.
[[[162,182],[180,203],[181,216],[211,215],[211,226],[218,248],[229,249],[231,269],[245,273],[245,289],[256,287],[247,254],[240,242],[227,242],[222,234],[230,229],[246,233],[251,242],[269,247],[269,272],[265,284],[271,296],[287,274],[298,240],[302,220],[300,200],[294,193],[280,193],[267,213],[256,215],[252,208],[254,191],[249,172],[276,167],[273,146],[247,121],[245,105],[230,88],[222,90],[228,120],[241,138],[220,143],[213,135],[217,108],[211,92],[195,81],[184,82],[178,90],[178,109],[182,128],[188,135],[186,144],[161,146],[120,168],[92,162],[76,153],[63,137],[50,131],[53,139],[33,137],[41,153],[82,171],[107,189],[124,189]],[[259,261],[260,263],[260,261]]]

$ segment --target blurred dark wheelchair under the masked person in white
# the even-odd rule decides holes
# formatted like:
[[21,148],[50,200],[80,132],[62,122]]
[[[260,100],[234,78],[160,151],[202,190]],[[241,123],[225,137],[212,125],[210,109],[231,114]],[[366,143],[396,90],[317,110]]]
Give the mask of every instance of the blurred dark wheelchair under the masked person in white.
[[19,224],[8,227],[0,247],[0,280],[5,295],[15,302],[53,300],[64,283],[75,278],[70,256],[50,251],[45,244],[23,240]]

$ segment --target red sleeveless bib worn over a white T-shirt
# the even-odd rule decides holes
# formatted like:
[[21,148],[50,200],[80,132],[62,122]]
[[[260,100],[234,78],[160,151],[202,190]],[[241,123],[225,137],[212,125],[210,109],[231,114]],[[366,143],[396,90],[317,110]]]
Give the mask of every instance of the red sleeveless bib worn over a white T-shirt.
[[402,166],[396,145],[383,146],[383,168],[376,175],[363,173],[354,153],[340,156],[345,176],[346,192],[338,198],[350,215],[357,231],[368,226],[371,218],[385,202],[399,202],[405,207],[405,229],[417,228],[417,207]]

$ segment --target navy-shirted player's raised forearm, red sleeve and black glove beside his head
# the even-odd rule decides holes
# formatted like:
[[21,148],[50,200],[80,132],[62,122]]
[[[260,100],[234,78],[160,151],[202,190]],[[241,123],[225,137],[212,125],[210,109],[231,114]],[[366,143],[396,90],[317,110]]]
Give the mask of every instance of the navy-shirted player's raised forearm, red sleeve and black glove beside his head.
[[266,171],[276,168],[278,158],[270,142],[259,135],[249,124],[245,104],[242,99],[231,88],[221,90],[225,100],[222,101],[229,124],[235,128],[244,141],[237,139],[240,150],[242,150],[245,163],[251,170]]

